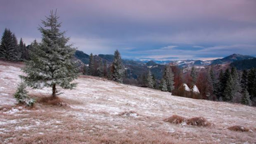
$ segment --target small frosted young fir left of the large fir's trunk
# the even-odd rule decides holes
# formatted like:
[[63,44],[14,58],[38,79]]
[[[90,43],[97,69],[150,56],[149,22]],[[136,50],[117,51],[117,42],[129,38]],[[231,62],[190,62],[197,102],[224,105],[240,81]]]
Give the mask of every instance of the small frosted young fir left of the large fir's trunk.
[[17,91],[14,94],[14,97],[19,104],[25,104],[26,106],[31,107],[34,105],[35,100],[33,98],[30,98],[27,93],[28,92],[26,90],[26,84],[24,82],[21,82],[17,87]]

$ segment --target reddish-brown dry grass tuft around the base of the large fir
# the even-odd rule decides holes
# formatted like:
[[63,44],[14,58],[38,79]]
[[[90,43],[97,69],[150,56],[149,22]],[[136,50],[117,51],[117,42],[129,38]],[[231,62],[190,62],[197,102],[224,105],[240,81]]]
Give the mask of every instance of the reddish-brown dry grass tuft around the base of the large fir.
[[37,100],[38,103],[46,104],[46,105],[54,105],[54,106],[61,106],[67,107],[67,104],[61,100],[59,97],[41,97]]

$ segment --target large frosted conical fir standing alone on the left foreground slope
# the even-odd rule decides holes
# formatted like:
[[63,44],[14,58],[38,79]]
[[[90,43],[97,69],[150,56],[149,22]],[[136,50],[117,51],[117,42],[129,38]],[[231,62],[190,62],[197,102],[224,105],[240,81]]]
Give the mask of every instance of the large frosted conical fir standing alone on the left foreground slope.
[[50,12],[44,27],[39,27],[42,34],[41,43],[33,44],[30,51],[31,60],[22,69],[27,76],[20,76],[27,85],[34,89],[52,87],[52,96],[56,96],[56,86],[73,89],[77,83],[71,83],[78,77],[78,68],[74,57],[75,48],[67,45],[69,38],[59,30],[61,24],[56,12]]

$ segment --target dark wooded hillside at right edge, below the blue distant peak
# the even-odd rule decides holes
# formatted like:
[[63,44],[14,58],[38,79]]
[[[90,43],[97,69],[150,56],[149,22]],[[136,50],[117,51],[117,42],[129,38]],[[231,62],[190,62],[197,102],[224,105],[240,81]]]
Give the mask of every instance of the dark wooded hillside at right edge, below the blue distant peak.
[[238,70],[256,68],[256,58],[238,60],[230,63],[231,67],[236,67]]

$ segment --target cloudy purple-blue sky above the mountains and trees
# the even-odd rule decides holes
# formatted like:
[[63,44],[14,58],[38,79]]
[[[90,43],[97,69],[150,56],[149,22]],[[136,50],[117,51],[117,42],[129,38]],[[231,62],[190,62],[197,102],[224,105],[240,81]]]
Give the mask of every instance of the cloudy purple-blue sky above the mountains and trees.
[[256,56],[256,0],[1,0],[0,34],[26,44],[58,9],[78,50],[126,59],[215,59]]

